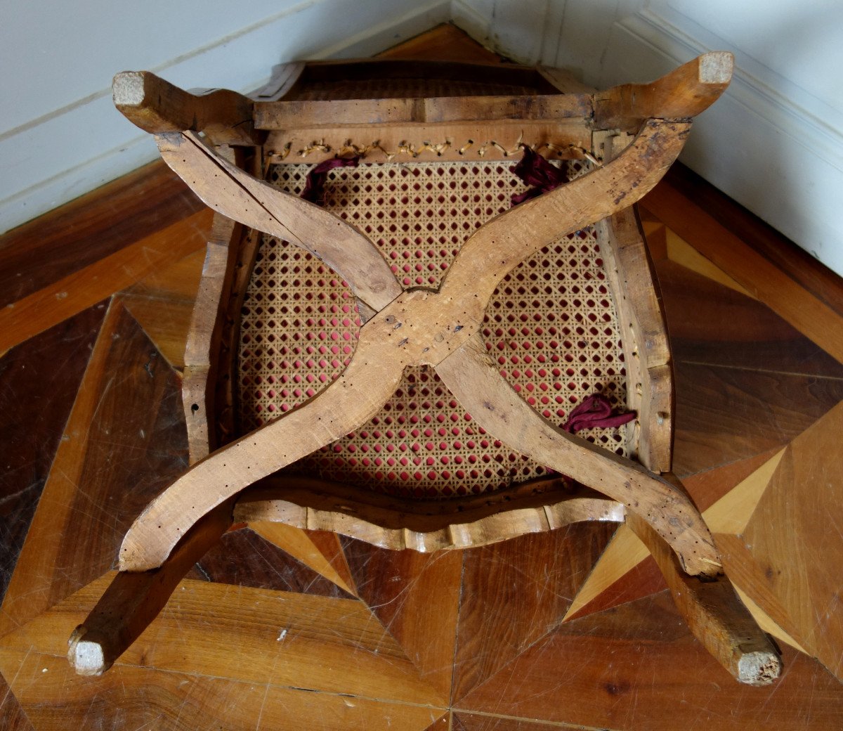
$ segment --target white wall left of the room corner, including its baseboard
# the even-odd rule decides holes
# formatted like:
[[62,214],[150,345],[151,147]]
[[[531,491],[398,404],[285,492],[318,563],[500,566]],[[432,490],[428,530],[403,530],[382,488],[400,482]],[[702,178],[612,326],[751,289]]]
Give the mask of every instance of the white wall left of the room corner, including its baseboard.
[[118,71],[249,91],[298,58],[368,56],[448,0],[0,0],[0,232],[153,160],[111,103]]

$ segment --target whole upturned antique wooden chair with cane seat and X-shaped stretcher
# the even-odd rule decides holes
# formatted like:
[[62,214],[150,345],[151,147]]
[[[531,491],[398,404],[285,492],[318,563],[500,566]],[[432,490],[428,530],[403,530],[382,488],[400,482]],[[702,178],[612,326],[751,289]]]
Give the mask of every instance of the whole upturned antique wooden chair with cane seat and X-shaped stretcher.
[[[633,207],[731,74],[710,53],[591,93],[554,69],[308,62],[251,99],[118,74],[118,109],[217,217],[185,357],[192,466],[126,534],[77,671],[110,667],[235,523],[437,551],[626,520],[711,654],[774,680],[670,472]],[[554,175],[529,190],[513,164],[534,153]],[[589,406],[632,421],[588,427]]]

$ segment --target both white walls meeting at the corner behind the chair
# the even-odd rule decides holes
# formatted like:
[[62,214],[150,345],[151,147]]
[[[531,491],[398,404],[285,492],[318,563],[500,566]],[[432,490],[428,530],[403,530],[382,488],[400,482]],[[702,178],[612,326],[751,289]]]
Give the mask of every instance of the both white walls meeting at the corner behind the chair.
[[602,87],[733,51],[733,84],[682,159],[843,274],[840,0],[0,2],[0,231],[155,158],[111,105],[117,71],[248,91],[279,62],[367,56],[454,19]]

